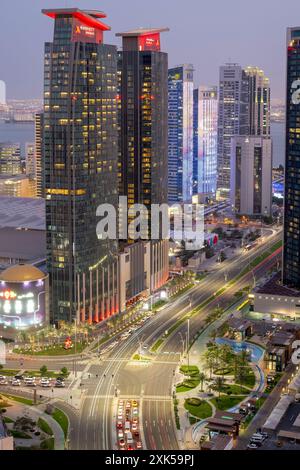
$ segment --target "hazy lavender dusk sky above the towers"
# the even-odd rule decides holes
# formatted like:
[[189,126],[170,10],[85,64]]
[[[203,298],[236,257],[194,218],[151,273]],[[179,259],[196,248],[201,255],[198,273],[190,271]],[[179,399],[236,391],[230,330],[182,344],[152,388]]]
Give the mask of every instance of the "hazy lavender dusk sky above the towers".
[[299,0],[1,0],[0,79],[8,98],[42,96],[53,21],[41,9],[56,7],[106,12],[110,44],[120,44],[118,31],[168,26],[162,48],[169,65],[192,63],[195,85],[217,84],[219,65],[231,60],[264,69],[272,98],[284,98],[286,27],[300,25]]

